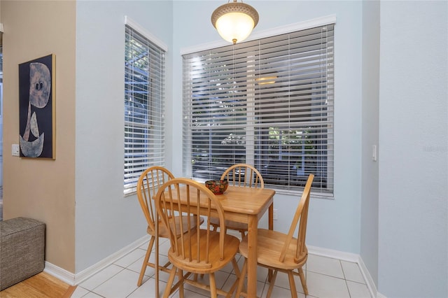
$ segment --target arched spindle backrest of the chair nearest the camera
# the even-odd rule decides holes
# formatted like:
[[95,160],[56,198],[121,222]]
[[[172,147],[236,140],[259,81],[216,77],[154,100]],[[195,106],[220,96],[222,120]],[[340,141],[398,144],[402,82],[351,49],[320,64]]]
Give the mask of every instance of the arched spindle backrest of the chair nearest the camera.
[[[155,206],[162,223],[169,227],[172,250],[182,264],[188,264],[191,267],[210,268],[209,257],[211,254],[219,253],[221,260],[223,259],[225,244],[224,210],[216,195],[205,185],[188,178],[169,180],[160,187],[155,197]],[[179,213],[180,209],[182,210],[181,213]],[[208,218],[202,227],[199,222],[199,215]],[[211,215],[220,220],[219,232],[212,231]],[[181,217],[182,220],[175,222],[174,217]],[[184,222],[187,222],[189,227],[183,227]],[[191,222],[195,222],[196,227],[190,227]],[[181,233],[179,231],[188,232]],[[216,241],[219,241],[219,247],[209,245],[209,243],[216,243]]]

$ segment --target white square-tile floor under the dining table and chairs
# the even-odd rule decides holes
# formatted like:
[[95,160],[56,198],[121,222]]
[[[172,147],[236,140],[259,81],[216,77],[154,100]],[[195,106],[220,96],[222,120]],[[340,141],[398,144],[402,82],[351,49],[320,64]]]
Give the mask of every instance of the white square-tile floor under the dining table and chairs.
[[[155,297],[154,269],[150,267],[146,269],[144,283],[137,287],[146,246],[147,244],[144,244],[133,250],[125,257],[106,267],[106,269],[80,283],[71,297]],[[160,239],[160,251],[167,251],[168,247],[169,242],[165,239]],[[152,258],[153,255],[151,255]],[[244,259],[238,255],[237,260],[241,268]],[[160,255],[160,263],[164,261],[167,261],[167,256]],[[304,271],[307,278],[308,297],[370,298],[370,292],[356,263],[309,254]],[[266,281],[267,269],[258,267],[257,276],[257,295],[258,297],[266,297],[267,288],[269,288],[269,283]],[[162,291],[165,289],[167,278],[168,274],[160,273],[160,297],[162,297]],[[207,276],[205,278],[208,280]],[[226,290],[230,288],[235,278],[235,274],[232,273],[232,266],[229,265],[216,274],[216,283],[220,288]],[[296,278],[297,295],[298,297],[305,297],[300,279],[298,276]],[[207,292],[190,285],[186,285],[185,288],[185,297],[209,297]],[[179,297],[179,292],[174,292],[171,297]],[[290,297],[286,274],[278,274],[272,297]]]

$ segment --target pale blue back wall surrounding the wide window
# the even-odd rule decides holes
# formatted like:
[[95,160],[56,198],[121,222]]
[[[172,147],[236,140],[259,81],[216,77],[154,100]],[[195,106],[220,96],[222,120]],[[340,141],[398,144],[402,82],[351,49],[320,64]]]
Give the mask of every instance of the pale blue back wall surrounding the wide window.
[[[204,43],[221,41],[210,16],[217,1],[174,1],[173,143],[182,140],[182,61],[179,53]],[[360,1],[250,1],[260,22],[253,34],[316,17],[335,14],[335,199],[312,199],[307,243],[310,246],[359,253],[361,152],[361,17]],[[276,11],[278,8],[278,11]],[[227,43],[223,43],[227,45]],[[182,174],[182,150],[173,151],[172,169]],[[311,192],[312,194],[312,192]],[[274,227],[286,231],[297,197],[276,194],[279,220]],[[294,208],[291,208],[294,206]],[[265,223],[265,222],[264,222]]]

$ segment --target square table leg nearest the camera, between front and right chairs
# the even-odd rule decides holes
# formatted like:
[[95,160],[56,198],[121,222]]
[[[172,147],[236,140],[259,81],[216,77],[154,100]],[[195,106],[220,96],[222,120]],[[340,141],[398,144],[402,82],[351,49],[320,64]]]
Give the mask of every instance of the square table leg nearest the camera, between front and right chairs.
[[248,218],[247,297],[257,297],[258,216]]

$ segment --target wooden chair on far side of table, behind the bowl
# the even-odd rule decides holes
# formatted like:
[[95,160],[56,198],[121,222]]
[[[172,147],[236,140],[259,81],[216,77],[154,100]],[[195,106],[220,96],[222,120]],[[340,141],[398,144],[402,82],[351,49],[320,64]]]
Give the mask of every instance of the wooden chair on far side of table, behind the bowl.
[[[241,186],[241,187],[265,187],[265,182],[260,172],[250,164],[234,164],[225,170],[221,175],[221,180],[227,179],[229,185]],[[214,227],[214,231],[218,229],[218,218],[211,219],[211,225]],[[233,229],[241,233],[241,237],[244,238],[247,232],[247,224],[241,222],[234,222],[227,220],[225,222],[227,229]]]

